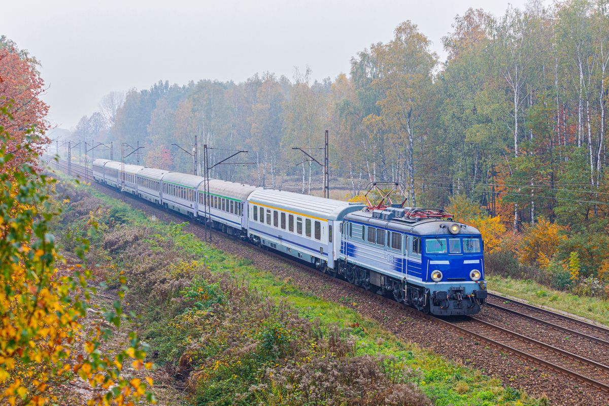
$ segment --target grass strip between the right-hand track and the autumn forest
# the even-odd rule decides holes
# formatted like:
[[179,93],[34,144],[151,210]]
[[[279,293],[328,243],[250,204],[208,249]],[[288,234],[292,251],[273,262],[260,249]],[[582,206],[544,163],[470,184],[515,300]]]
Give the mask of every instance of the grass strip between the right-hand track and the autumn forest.
[[515,298],[525,299],[532,304],[552,307],[609,326],[609,302],[588,296],[572,295],[568,292],[554,290],[527,279],[487,278],[488,289]]

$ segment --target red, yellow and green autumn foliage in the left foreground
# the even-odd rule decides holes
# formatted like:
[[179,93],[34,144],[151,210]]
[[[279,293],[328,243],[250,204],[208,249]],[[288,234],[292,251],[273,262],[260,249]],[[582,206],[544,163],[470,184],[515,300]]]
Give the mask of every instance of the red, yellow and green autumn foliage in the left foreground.
[[[100,351],[127,318],[121,301],[93,306],[90,271],[57,251],[51,224],[59,205],[36,164],[48,142],[42,84],[33,61],[0,38],[0,404],[58,404],[60,388],[79,380],[91,387],[90,405],[152,401],[152,381],[128,372],[152,368],[137,335],[116,354]],[[79,241],[81,259],[87,247]],[[85,328],[87,313],[97,317]]]

